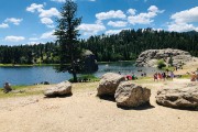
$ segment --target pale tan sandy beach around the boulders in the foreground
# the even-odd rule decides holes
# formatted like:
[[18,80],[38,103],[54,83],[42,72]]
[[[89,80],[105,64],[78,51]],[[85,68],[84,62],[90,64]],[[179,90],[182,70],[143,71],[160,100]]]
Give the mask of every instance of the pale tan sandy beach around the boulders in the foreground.
[[[186,70],[193,69],[185,66],[183,72]],[[113,100],[96,97],[98,82],[82,84],[84,89],[75,84],[73,96],[66,98],[44,98],[43,95],[3,98],[0,99],[0,131],[197,132],[198,111],[172,109],[155,102],[157,89],[188,82],[189,79],[142,82],[152,91],[151,106],[129,110],[118,108]]]

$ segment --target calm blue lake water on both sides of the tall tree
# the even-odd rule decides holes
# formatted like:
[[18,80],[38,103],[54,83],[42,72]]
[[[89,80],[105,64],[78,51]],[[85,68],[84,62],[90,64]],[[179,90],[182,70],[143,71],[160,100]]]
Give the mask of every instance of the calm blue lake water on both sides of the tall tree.
[[[121,72],[122,75],[135,75],[140,76],[142,73],[147,75],[156,72],[156,68],[152,67],[135,67],[133,62],[119,62],[100,64],[98,72],[94,73],[95,76],[101,77],[105,73]],[[140,72],[141,70],[141,72]],[[6,81],[11,85],[33,85],[42,81],[48,81],[51,84],[57,84],[72,78],[68,73],[56,73],[53,66],[34,66],[34,67],[0,67],[0,87],[3,87]]]

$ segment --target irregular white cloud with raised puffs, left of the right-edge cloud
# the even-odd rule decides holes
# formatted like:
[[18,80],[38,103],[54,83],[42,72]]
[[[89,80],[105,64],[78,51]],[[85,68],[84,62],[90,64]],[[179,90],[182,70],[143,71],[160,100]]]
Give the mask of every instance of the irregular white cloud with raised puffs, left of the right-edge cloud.
[[151,6],[147,9],[146,13],[140,13],[135,15],[134,9],[129,9],[128,12],[131,13],[130,16],[128,16],[129,23],[135,25],[135,24],[151,24],[154,22],[153,18],[155,18],[158,13],[163,13],[164,10],[158,10],[156,6]]

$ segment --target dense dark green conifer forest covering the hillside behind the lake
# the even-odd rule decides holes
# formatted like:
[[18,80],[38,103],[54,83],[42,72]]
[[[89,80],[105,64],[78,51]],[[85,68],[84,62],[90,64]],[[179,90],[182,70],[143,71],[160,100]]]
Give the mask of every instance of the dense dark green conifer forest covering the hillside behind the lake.
[[[98,62],[134,61],[145,50],[177,48],[198,56],[198,32],[167,32],[152,29],[123,30],[119,34],[79,40],[80,50],[90,50]],[[65,51],[67,52],[67,51]],[[0,64],[58,64],[56,42],[0,46]]]

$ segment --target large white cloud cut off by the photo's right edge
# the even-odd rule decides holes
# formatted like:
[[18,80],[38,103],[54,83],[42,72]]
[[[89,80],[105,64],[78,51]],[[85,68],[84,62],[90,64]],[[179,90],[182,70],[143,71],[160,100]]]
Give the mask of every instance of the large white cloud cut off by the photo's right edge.
[[169,31],[198,31],[198,26],[193,24],[198,22],[198,7],[176,12],[170,16],[170,19],[173,21],[167,25]]

